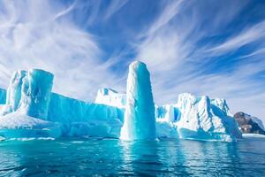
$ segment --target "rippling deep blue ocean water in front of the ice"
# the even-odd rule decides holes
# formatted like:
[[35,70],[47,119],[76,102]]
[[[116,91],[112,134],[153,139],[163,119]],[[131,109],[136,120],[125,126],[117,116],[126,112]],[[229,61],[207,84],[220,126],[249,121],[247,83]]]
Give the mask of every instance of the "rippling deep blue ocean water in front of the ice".
[[0,176],[265,176],[265,139],[0,142]]

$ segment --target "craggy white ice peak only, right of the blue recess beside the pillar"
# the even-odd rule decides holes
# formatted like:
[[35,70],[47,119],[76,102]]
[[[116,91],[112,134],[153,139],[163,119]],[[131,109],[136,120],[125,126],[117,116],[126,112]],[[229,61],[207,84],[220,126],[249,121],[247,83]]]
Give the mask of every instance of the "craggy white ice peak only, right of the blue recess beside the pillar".
[[176,122],[180,138],[231,142],[242,137],[223,99],[185,93],[178,96],[176,106],[181,114]]

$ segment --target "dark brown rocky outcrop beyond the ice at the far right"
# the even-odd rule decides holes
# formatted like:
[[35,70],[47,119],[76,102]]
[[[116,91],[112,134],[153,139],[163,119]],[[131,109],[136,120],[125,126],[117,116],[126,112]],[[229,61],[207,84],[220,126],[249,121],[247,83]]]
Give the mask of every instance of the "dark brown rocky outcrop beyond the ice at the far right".
[[261,119],[252,117],[244,112],[236,113],[234,119],[239,123],[240,130],[243,134],[265,135]]

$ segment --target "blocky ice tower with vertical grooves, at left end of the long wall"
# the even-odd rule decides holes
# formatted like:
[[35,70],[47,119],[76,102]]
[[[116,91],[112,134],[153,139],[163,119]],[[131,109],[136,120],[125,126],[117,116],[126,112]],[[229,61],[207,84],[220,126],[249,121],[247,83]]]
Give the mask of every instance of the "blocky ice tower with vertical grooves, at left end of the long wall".
[[11,112],[47,119],[53,74],[32,69],[13,73],[2,115]]

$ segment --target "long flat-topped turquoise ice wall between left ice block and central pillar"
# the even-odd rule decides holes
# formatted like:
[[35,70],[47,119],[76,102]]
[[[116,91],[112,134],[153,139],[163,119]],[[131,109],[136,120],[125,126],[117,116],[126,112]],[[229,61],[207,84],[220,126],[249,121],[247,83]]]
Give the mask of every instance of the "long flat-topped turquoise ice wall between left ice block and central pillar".
[[49,103],[48,120],[62,124],[66,136],[120,135],[124,111],[114,106],[86,103],[53,93]]

